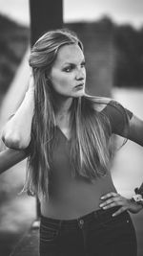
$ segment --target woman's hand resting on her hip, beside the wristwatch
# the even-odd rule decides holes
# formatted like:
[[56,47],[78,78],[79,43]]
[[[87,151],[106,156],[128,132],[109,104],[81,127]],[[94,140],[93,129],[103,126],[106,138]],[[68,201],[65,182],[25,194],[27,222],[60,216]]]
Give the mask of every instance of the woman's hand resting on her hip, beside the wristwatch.
[[143,205],[136,203],[133,199],[124,198],[121,195],[111,192],[103,197],[101,197],[103,201],[100,203],[100,208],[103,210],[110,209],[115,206],[119,206],[119,209],[112,214],[112,216],[117,216],[124,211],[130,211],[131,213],[138,213],[141,209],[143,209]]

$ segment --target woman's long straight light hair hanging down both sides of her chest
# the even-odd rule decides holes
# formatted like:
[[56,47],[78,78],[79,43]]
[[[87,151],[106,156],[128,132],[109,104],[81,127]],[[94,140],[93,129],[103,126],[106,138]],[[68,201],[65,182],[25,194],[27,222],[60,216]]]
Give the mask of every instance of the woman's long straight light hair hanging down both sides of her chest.
[[[55,140],[56,122],[54,92],[48,75],[59,48],[67,44],[78,44],[83,50],[77,35],[67,30],[46,33],[31,49],[35,110],[25,189],[34,195],[49,195],[51,144]],[[100,102],[98,98],[85,94],[74,98],[70,108],[72,175],[90,180],[105,175],[111,159],[111,127],[103,111],[96,109]]]

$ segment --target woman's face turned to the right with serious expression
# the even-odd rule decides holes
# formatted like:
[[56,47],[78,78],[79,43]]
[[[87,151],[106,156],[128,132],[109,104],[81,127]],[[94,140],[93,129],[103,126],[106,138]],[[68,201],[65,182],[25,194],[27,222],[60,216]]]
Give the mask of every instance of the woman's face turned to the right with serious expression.
[[62,96],[79,97],[84,94],[85,58],[77,44],[64,45],[59,49],[49,77],[55,92]]

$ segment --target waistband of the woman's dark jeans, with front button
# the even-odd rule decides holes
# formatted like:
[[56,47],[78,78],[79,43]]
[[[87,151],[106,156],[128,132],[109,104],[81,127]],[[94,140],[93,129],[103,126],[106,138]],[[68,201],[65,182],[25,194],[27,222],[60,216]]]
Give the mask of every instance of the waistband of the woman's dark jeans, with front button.
[[120,215],[118,215],[117,217],[112,217],[112,213],[114,213],[115,211],[117,211],[119,207],[112,207],[110,209],[107,210],[103,210],[103,209],[99,209],[96,211],[92,211],[92,213],[89,213],[87,215],[81,216],[77,219],[72,219],[72,220],[57,220],[57,219],[52,219],[49,217],[44,217],[41,216],[41,224],[49,224],[51,223],[54,226],[62,226],[62,227],[77,227],[77,226],[82,226],[83,224],[86,224],[92,220],[99,222],[103,222],[103,221],[111,221],[112,218],[123,218],[123,216],[127,215],[127,212],[124,212]]

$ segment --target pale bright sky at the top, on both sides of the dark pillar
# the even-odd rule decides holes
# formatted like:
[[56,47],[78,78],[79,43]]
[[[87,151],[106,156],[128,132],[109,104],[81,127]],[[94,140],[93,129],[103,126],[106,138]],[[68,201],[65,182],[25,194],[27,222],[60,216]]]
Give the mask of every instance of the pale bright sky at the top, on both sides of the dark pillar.
[[[143,0],[63,0],[63,6],[65,22],[93,21],[109,15],[119,24],[143,26]],[[29,0],[0,0],[0,12],[21,24],[30,24]]]

